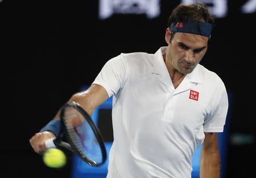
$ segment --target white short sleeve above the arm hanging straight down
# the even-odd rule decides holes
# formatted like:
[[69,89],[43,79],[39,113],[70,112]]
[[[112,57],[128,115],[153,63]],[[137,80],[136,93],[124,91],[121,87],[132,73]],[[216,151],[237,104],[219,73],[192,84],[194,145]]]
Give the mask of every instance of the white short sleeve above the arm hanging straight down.
[[225,86],[220,94],[216,109],[212,115],[209,115],[204,121],[205,133],[218,133],[223,132],[226,122],[226,115],[228,113],[228,94]]

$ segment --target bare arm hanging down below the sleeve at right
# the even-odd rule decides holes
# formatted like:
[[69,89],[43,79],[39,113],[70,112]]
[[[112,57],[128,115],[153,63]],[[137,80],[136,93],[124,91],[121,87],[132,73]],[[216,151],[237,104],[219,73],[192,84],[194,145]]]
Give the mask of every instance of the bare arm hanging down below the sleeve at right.
[[217,133],[205,133],[200,156],[200,178],[220,177]]

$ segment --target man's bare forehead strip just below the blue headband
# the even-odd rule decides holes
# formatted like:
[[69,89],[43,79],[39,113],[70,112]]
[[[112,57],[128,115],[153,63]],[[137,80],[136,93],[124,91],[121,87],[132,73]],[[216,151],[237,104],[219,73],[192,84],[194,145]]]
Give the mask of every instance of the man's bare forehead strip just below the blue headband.
[[177,43],[184,43],[192,47],[203,47],[208,43],[207,36],[188,34],[183,32],[176,32],[173,40]]

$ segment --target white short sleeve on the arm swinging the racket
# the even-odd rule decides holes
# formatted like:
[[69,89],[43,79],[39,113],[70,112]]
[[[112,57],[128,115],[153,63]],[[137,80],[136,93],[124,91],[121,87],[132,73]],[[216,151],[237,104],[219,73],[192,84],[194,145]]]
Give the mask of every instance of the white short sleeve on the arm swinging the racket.
[[110,59],[98,73],[93,84],[101,85],[109,97],[118,93],[125,84],[129,68],[122,55]]

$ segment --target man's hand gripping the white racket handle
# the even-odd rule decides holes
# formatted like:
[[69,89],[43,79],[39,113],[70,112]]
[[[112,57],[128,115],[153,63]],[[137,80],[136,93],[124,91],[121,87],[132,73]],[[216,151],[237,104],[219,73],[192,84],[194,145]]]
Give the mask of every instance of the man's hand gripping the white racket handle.
[[46,151],[46,145],[44,144],[49,138],[56,138],[56,136],[50,131],[44,131],[43,133],[36,133],[30,139],[30,144],[35,152],[42,155]]

